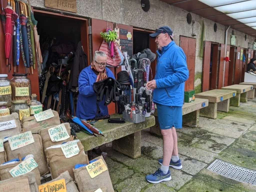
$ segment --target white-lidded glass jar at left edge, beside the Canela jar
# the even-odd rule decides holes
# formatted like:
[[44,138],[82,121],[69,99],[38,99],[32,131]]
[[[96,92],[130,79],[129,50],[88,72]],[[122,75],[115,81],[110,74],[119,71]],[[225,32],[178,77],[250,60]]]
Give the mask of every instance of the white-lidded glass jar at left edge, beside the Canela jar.
[[0,74],[0,102],[7,102],[7,107],[12,105],[11,82],[7,74]]

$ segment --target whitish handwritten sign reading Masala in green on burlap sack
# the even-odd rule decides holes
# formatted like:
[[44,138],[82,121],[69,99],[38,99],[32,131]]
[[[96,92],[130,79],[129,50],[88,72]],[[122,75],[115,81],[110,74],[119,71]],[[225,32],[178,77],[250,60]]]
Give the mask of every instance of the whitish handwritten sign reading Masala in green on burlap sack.
[[48,132],[52,142],[63,141],[70,137],[64,123],[48,129]]

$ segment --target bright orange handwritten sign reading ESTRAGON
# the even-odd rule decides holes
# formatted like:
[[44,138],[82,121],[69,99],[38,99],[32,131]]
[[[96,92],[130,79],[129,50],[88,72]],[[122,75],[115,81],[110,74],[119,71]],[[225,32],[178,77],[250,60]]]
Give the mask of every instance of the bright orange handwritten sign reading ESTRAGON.
[[39,192],[45,192],[45,191],[67,192],[65,179],[60,179],[51,183],[39,185],[38,190]]

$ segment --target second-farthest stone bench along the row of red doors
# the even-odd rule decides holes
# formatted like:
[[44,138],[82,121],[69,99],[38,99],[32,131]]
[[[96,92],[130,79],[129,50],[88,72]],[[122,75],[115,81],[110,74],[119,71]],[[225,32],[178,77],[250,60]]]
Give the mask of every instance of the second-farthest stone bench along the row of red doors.
[[236,106],[239,107],[240,101],[241,102],[247,102],[248,95],[254,96],[254,89],[252,85],[230,85],[227,87],[222,87],[221,89],[225,90],[233,90],[237,92],[237,95],[235,97],[230,98],[230,106]]

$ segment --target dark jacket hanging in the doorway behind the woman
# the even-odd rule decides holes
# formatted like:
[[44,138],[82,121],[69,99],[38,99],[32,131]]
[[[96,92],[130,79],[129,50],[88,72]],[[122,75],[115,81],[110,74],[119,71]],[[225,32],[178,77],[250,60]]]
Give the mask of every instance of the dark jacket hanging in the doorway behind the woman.
[[76,55],[74,58],[74,63],[71,68],[70,78],[69,78],[69,89],[78,87],[78,77],[80,72],[88,66],[87,55],[83,51],[82,42],[79,41],[77,45]]

